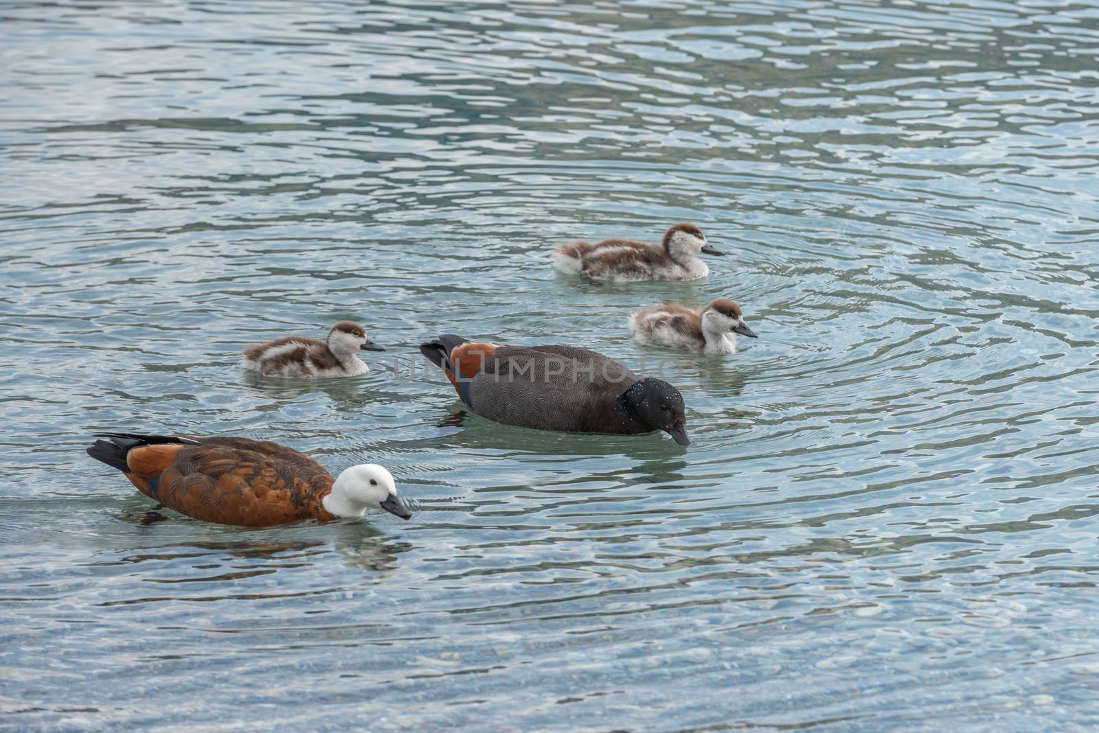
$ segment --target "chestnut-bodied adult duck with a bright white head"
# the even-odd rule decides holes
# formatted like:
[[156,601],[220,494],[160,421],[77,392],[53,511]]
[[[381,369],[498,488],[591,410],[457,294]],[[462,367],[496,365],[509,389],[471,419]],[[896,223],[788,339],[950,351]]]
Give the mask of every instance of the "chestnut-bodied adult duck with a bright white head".
[[[408,519],[384,466],[364,463],[333,478],[286,446],[247,438],[102,432],[88,455],[125,474],[145,496],[218,525],[273,527],[362,517],[367,508]],[[102,440],[106,439],[106,440]]]

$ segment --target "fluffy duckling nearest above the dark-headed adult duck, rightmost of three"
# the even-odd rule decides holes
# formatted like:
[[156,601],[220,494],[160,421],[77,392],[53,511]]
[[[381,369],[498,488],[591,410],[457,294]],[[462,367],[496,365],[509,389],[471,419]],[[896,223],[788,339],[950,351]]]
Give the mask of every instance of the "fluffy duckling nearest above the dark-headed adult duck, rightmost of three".
[[759,338],[744,323],[741,306],[723,297],[702,308],[669,303],[637,311],[630,330],[641,343],[698,353],[736,353],[736,334]]

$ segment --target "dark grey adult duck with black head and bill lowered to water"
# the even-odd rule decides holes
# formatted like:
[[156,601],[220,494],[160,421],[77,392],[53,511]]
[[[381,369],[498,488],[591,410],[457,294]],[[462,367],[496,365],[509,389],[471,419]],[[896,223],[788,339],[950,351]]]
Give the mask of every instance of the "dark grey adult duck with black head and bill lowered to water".
[[474,415],[523,428],[630,436],[664,431],[690,446],[684,398],[656,377],[573,346],[498,346],[443,334],[420,352]]

